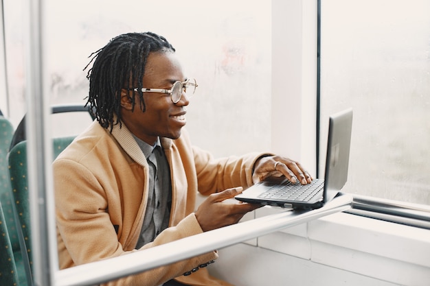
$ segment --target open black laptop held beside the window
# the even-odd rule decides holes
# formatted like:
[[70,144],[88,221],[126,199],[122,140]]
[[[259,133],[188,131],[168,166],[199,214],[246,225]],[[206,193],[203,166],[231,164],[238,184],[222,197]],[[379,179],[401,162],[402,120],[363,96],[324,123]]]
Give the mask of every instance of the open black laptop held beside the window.
[[348,178],[352,108],[330,116],[324,179],[292,183],[285,176],[270,177],[249,187],[236,200],[284,208],[320,208],[339,193]]

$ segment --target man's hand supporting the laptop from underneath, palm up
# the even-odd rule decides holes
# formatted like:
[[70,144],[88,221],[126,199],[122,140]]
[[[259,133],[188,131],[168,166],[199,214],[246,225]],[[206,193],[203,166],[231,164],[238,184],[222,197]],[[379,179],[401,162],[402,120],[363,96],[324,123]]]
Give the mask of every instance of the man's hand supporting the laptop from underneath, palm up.
[[195,213],[201,229],[209,231],[236,224],[246,213],[261,206],[259,204],[247,204],[239,201],[235,203],[223,202],[242,193],[242,190],[242,187],[226,189],[220,193],[212,193],[212,195],[207,197]]

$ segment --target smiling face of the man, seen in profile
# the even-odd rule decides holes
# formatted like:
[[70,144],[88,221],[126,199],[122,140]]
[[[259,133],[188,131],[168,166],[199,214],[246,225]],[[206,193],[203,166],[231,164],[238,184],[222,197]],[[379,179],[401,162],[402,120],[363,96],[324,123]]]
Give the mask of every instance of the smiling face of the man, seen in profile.
[[[143,78],[144,88],[171,89],[174,82],[184,82],[185,75],[174,53],[150,53]],[[144,93],[145,112],[140,108],[139,96],[131,111],[131,99],[126,90],[121,94],[122,121],[139,139],[152,145],[158,136],[177,139],[185,126],[185,106],[190,103],[185,94],[174,104],[169,94]],[[137,92],[135,92],[137,93]]]

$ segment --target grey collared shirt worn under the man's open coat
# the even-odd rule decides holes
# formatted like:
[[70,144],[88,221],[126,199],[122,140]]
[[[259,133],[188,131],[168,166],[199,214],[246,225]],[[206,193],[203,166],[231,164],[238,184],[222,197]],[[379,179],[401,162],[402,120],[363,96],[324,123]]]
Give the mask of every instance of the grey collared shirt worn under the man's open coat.
[[154,146],[145,143],[136,136],[135,140],[144,152],[149,165],[148,203],[136,245],[136,249],[139,249],[146,243],[153,241],[161,231],[168,228],[172,205],[172,187],[170,168],[160,140],[158,139]]

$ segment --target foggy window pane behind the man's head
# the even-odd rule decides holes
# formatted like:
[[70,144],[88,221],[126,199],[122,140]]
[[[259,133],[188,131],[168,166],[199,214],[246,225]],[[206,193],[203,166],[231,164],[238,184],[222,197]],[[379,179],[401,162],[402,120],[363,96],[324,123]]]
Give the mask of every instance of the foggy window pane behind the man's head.
[[[18,122],[23,109],[22,0],[8,0],[8,69]],[[93,51],[126,32],[165,36],[199,87],[188,107],[192,141],[216,156],[270,147],[271,5],[241,1],[45,2],[44,59],[51,104],[84,103]],[[227,8],[228,7],[228,8]],[[18,40],[14,40],[18,38]],[[16,115],[19,113],[19,115]],[[261,116],[256,116],[256,115]],[[87,125],[87,116],[84,117]],[[70,121],[70,120],[69,120]],[[70,121],[79,124],[78,121]],[[61,122],[61,125],[63,126]],[[67,128],[66,128],[67,129]],[[65,128],[63,127],[63,130]]]

